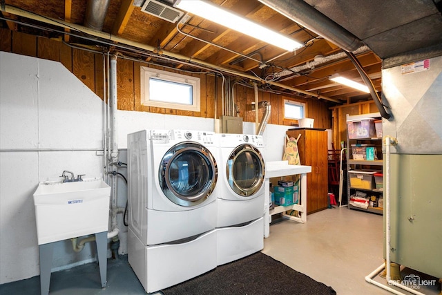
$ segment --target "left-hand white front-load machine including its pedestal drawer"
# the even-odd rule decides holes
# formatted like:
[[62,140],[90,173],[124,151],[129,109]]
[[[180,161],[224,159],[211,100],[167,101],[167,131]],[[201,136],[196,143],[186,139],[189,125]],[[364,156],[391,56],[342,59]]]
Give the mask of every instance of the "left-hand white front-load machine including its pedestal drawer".
[[217,156],[211,132],[128,135],[128,260],[146,292],[216,267]]

